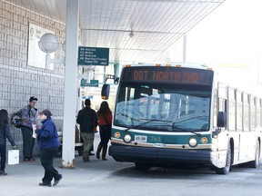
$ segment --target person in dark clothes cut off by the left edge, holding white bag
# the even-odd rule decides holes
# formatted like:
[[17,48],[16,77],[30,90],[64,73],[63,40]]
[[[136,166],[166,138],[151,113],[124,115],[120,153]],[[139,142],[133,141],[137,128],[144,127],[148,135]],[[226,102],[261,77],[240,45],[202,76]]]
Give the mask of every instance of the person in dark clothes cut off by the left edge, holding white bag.
[[1,168],[0,176],[5,176],[5,158],[6,158],[6,138],[11,143],[13,148],[16,148],[15,141],[10,133],[8,126],[8,113],[6,110],[0,110],[0,154],[1,154]]

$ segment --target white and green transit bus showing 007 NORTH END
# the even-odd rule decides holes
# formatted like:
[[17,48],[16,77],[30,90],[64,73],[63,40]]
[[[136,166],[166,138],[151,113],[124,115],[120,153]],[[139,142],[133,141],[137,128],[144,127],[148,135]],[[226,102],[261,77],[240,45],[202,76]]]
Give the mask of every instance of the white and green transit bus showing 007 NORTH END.
[[219,83],[207,66],[126,65],[119,78],[109,155],[150,166],[257,168],[261,98]]

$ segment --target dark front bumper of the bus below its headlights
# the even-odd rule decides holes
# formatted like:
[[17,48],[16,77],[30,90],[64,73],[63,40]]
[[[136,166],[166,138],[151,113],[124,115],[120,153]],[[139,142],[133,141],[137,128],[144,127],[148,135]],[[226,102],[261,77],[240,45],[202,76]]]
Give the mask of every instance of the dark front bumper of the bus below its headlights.
[[133,147],[113,144],[109,155],[116,162],[139,162],[150,165],[206,165],[211,166],[211,150],[165,149]]

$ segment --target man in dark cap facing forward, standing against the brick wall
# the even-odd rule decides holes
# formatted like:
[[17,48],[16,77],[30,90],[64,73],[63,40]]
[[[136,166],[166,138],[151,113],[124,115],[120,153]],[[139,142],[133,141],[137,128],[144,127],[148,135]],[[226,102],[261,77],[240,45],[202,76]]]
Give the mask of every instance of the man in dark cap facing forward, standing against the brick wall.
[[35,104],[37,98],[31,96],[29,104],[25,105],[22,110],[22,135],[23,135],[23,156],[25,162],[34,162],[33,150],[35,146],[35,138],[33,137],[33,125],[36,125],[37,109]]

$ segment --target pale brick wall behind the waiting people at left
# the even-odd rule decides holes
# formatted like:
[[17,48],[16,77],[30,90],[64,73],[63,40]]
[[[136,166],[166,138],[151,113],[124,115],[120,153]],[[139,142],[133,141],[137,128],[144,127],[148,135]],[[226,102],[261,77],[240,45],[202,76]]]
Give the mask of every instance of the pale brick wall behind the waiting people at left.
[[[29,24],[54,31],[58,41],[64,43],[65,24],[0,1],[0,108],[11,115],[34,95],[38,98],[37,108],[50,109],[58,131],[62,131],[64,64],[55,64],[53,71],[27,65]],[[64,55],[63,50],[55,52],[55,58]],[[11,132],[22,152],[20,129],[11,126]]]

